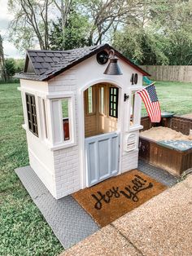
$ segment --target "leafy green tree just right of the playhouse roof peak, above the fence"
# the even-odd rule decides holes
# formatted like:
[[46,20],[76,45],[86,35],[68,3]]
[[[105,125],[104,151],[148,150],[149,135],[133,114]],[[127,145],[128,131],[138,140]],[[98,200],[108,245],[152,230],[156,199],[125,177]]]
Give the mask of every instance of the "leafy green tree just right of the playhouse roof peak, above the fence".
[[164,54],[166,40],[147,28],[126,26],[117,32],[113,46],[137,64],[168,64],[168,57]]

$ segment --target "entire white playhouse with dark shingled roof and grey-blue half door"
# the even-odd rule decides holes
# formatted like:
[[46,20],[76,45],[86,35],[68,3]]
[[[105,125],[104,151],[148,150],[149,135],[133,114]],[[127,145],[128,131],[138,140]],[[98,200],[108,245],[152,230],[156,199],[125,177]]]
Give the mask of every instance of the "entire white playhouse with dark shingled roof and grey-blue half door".
[[20,88],[30,166],[56,199],[137,168],[142,77],[111,46],[27,51]]

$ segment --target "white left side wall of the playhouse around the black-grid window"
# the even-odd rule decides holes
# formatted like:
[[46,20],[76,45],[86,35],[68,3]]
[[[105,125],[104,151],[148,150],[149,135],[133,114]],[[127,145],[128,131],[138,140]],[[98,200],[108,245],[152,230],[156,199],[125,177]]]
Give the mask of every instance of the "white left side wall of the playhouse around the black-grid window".
[[[47,82],[35,82],[21,79],[20,90],[24,109],[24,129],[26,130],[27,135],[29,164],[41,181],[46,185],[46,188],[48,188],[52,195],[55,196],[54,155],[41,136],[41,120],[39,118],[40,109],[38,104],[38,97],[44,97],[47,94],[48,85]],[[25,99],[26,93],[35,95],[38,137],[28,130],[28,117]]]

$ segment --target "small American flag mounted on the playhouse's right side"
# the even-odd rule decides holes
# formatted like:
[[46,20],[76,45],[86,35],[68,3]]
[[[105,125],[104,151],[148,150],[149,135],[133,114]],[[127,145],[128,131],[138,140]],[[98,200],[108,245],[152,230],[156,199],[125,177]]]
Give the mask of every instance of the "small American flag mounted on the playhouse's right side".
[[151,122],[159,122],[161,120],[161,112],[154,83],[142,90],[138,90],[137,94],[142,97]]

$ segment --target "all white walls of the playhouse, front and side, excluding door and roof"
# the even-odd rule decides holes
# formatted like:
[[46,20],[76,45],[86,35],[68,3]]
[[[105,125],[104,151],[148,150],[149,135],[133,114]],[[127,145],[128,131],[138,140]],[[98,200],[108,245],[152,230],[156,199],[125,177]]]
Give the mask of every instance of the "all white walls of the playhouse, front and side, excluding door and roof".
[[[52,78],[48,82],[33,82],[21,80],[20,90],[22,92],[24,106],[24,128],[27,132],[29,161],[33,170],[46,185],[56,199],[67,196],[87,186],[85,173],[85,123],[84,123],[84,90],[99,82],[108,82],[120,88],[118,132],[120,133],[120,171],[137,168],[138,147],[131,151],[124,148],[124,140],[129,133],[137,137],[140,126],[141,100],[137,99],[137,109],[135,109],[135,125],[130,127],[130,100],[124,102],[124,94],[131,95],[132,90],[142,87],[142,73],[137,72],[124,61],[118,61],[123,75],[109,76],[103,72],[107,64],[100,65],[96,61],[96,55],[77,64],[74,68]],[[138,74],[137,86],[131,86],[130,77],[132,73]],[[28,130],[28,118],[26,111],[25,93],[32,93],[36,97],[37,121],[39,137],[37,138]],[[72,98],[72,141],[63,141],[63,135],[57,129],[56,124],[60,121],[59,104],[54,100]],[[47,110],[47,129],[49,136],[44,138],[41,132],[41,115],[39,100],[44,99]],[[54,110],[53,110],[54,108]],[[61,127],[61,126],[60,126]],[[58,142],[55,143],[55,136]],[[60,140],[60,141],[59,141]]]

